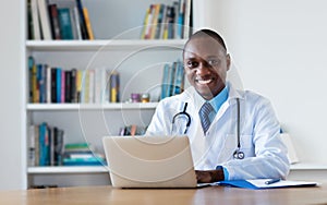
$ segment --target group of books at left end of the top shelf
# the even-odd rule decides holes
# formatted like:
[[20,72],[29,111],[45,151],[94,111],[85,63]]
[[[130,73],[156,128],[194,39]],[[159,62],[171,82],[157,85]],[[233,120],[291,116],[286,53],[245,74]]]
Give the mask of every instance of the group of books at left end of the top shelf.
[[28,0],[27,10],[29,39],[94,39],[88,10],[82,0]]

